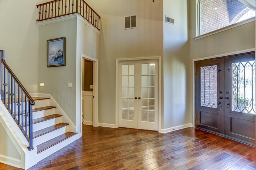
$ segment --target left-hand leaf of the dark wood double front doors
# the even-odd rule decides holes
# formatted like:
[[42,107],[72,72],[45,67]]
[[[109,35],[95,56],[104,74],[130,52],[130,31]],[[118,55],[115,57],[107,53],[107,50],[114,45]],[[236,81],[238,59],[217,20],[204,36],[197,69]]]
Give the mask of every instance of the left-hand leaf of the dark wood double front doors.
[[196,127],[224,134],[223,59],[196,62]]

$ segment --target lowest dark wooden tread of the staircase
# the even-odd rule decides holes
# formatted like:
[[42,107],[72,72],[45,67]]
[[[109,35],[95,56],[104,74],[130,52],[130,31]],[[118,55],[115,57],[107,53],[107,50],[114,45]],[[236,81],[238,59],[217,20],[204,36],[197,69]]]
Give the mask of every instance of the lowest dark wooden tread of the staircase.
[[58,143],[76,135],[77,133],[74,133],[74,132],[67,132],[67,133],[64,133],[56,138],[53,138],[51,139],[50,141],[47,141],[45,143],[42,143],[40,145],[37,146],[37,153],[40,153],[50,147],[53,147],[54,145],[57,145]]

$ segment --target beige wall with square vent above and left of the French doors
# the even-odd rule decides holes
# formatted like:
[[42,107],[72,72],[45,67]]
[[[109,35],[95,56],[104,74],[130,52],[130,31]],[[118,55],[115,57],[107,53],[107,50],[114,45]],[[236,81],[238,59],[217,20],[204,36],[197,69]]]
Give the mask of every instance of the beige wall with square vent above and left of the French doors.
[[[163,55],[163,2],[93,0],[100,15],[99,122],[115,124],[116,59]],[[124,17],[137,15],[137,28],[124,30]]]

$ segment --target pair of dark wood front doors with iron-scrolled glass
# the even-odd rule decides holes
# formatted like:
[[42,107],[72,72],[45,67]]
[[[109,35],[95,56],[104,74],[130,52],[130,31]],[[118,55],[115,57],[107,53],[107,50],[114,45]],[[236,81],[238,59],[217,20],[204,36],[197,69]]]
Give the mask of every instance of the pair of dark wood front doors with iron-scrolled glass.
[[255,146],[255,54],[196,62],[196,127]]

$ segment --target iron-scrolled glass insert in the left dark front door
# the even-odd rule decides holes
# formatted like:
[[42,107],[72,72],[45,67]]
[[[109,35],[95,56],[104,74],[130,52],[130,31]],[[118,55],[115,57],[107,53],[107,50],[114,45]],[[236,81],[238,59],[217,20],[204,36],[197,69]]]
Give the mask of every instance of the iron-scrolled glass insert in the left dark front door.
[[217,108],[217,65],[201,67],[201,106]]

